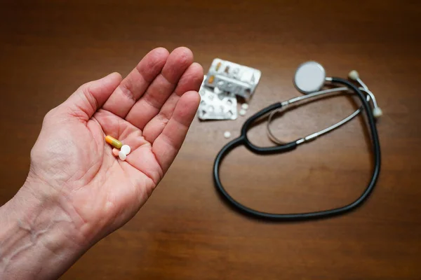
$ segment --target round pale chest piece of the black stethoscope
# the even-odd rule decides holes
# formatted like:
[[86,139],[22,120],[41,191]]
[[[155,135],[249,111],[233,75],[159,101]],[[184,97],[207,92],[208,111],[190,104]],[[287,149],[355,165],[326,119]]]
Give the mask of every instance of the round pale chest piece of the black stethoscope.
[[326,71],[318,62],[304,62],[295,71],[294,85],[302,93],[320,90],[326,79]]

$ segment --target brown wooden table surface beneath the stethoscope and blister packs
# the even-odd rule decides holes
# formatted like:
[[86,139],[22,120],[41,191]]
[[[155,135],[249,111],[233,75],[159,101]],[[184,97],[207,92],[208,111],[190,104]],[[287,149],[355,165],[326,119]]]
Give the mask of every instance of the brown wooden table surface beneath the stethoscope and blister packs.
[[[232,211],[212,165],[245,120],[194,120],[185,145],[135,218],[62,279],[420,279],[421,44],[419,1],[2,1],[0,203],[22,186],[46,112],[82,83],[128,73],[156,46],[186,45],[207,71],[215,57],[262,71],[247,116],[299,93],[301,62],[330,76],[357,69],[385,116],[380,181],[346,216],[266,223]],[[295,139],[355,108],[335,97],[287,113]],[[358,197],[370,177],[363,118],[285,155],[237,148],[222,165],[236,199],[264,211],[314,211]],[[269,144],[265,127],[250,132]],[[8,148],[12,147],[12,148]]]

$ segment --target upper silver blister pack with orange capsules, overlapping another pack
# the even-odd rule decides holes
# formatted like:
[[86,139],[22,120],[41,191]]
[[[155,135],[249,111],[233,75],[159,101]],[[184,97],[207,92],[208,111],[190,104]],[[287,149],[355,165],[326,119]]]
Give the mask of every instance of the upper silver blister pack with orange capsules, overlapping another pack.
[[249,99],[255,92],[261,75],[258,69],[215,58],[204,84],[206,87],[218,87],[224,92]]

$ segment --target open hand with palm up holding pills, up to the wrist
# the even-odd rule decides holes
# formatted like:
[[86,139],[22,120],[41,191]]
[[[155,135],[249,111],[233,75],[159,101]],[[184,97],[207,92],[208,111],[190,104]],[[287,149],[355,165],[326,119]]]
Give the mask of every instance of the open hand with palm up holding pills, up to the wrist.
[[[44,119],[28,176],[41,189],[34,193],[55,197],[89,239],[119,228],[177,155],[202,79],[189,49],[156,48],[123,80],[112,73],[82,85]],[[126,161],[113,155],[105,135],[131,146]]]

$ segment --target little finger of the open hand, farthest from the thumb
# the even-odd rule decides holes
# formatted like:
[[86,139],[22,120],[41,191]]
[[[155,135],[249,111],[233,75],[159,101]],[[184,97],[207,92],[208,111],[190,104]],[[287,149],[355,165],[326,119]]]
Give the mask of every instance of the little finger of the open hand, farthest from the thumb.
[[180,97],[175,106],[173,116],[159,137],[152,144],[152,152],[156,156],[161,169],[165,173],[181,148],[187,131],[199,107],[200,95],[190,91]]

